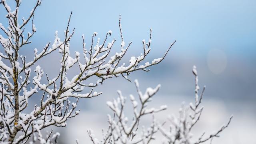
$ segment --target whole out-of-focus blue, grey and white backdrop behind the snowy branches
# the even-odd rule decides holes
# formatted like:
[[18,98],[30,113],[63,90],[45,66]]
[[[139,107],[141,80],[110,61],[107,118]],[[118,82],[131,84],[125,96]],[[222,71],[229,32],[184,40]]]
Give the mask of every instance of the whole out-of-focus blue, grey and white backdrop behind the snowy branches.
[[[35,0],[23,0],[20,18],[26,18],[35,3]],[[183,101],[189,104],[194,100],[193,65],[198,68],[199,85],[201,88],[206,85],[204,112],[193,131],[195,136],[217,130],[233,114],[230,126],[213,143],[256,143],[255,0],[43,0],[34,18],[37,32],[22,54],[32,60],[34,48],[40,50],[47,42],[53,42],[56,30],[63,39],[71,11],[70,29],[76,27],[70,48],[73,56],[75,51],[82,53],[82,34],[88,46],[93,32],[98,32],[97,36],[103,39],[108,30],[112,30],[111,38],[118,39],[112,54],[119,52],[120,14],[124,40],[126,44],[133,42],[124,62],[143,52],[142,40],[148,40],[150,28],[152,50],[145,62],[162,57],[174,40],[176,43],[163,62],[151,67],[150,72],[130,74],[132,83],[122,77],[109,79],[96,88],[103,92],[101,96],[80,99],[80,115],[70,119],[66,128],[57,130],[61,134],[60,143],[72,144],[76,138],[81,144],[90,143],[86,132],[89,128],[101,139],[102,128],[108,128],[106,115],[112,114],[106,101],[117,97],[116,90],[122,90],[127,97],[136,96],[135,79],[139,80],[142,91],[162,85],[151,105],[168,105],[168,110],[158,114],[159,121],[166,120],[167,115],[178,114]],[[1,8],[3,24],[6,24],[5,15]],[[60,68],[59,58],[56,52],[37,64],[53,77]],[[70,71],[70,76],[76,72]],[[33,102],[30,106],[33,108]],[[149,123],[145,119],[141,124]]]

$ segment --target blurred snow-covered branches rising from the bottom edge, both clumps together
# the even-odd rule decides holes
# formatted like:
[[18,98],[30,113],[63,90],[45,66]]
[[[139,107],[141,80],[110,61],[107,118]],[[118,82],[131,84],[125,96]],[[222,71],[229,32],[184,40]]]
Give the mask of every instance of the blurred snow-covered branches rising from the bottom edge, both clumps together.
[[[193,67],[193,74],[195,76],[195,103],[190,103],[189,106],[184,106],[179,110],[178,116],[169,116],[168,121],[170,125],[169,130],[166,130],[165,123],[158,122],[154,114],[162,110],[166,110],[167,106],[163,105],[160,108],[148,108],[148,103],[152,101],[152,96],[158,92],[160,84],[156,88],[147,88],[143,94],[140,91],[138,81],[135,80],[135,86],[137,88],[139,102],[136,101],[133,95],[130,95],[130,101],[132,103],[132,109],[134,116],[127,117],[124,114],[124,106],[126,103],[126,97],[122,96],[121,91],[118,91],[118,98],[112,102],[107,102],[108,107],[114,112],[114,117],[108,115],[108,129],[106,133],[103,133],[102,140],[95,137],[92,130],[88,130],[93,144],[149,144],[153,140],[159,144],[160,138],[156,138],[155,134],[160,132],[164,136],[162,144],[201,144],[207,141],[212,142],[214,137],[219,137],[220,132],[228,127],[233,116],[230,117],[227,124],[221,126],[218,130],[212,132],[212,134],[205,136],[205,132],[196,140],[192,140],[193,134],[191,132],[194,125],[200,119],[203,107],[200,107],[202,102],[205,86],[202,93],[199,96],[198,86],[198,74],[196,66]],[[190,110],[190,111],[189,111]],[[149,128],[142,126],[142,130],[139,130],[140,118],[145,115],[152,115],[152,124]],[[138,136],[139,135],[139,136]]]

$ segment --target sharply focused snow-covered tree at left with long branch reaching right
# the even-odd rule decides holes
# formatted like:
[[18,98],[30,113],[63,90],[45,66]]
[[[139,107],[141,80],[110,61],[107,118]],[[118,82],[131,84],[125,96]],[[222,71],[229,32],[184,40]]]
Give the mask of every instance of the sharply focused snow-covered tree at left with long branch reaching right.
[[[120,64],[120,61],[126,54],[132,42],[125,44],[122,34],[121,18],[119,19],[121,50],[110,56],[110,50],[115,44],[116,39],[107,42],[112,34],[106,33],[103,42],[96,39],[97,32],[92,34],[92,42],[86,47],[84,36],[82,36],[83,53],[75,53],[75,57],[70,56],[70,40],[74,35],[74,30],[70,30],[69,24],[72,16],[70,14],[68,25],[64,31],[64,40],[60,40],[58,32],[55,32],[55,40],[51,44],[48,42],[42,51],[34,49],[34,60],[27,60],[26,56],[19,54],[20,50],[31,43],[30,39],[36,32],[34,24],[34,12],[40,6],[41,0],[37,0],[27,18],[19,18],[19,7],[21,0],[13,0],[14,8],[11,8],[6,0],[1,0],[0,4],[6,11],[6,20],[8,25],[0,23],[3,35],[0,35],[0,142],[1,143],[26,143],[30,137],[32,143],[39,140],[41,143],[52,143],[58,137],[58,133],[43,138],[40,130],[48,126],[66,126],[68,118],[79,114],[75,110],[78,98],[92,98],[99,96],[102,92],[94,92],[93,87],[100,86],[108,78],[122,76],[126,80],[131,72],[136,70],[149,71],[147,68],[160,63],[174,44],[170,45],[162,58],[152,62],[144,62],[145,57],[150,52],[151,33],[148,42],[142,40],[143,53],[140,56],[132,56],[128,64]],[[27,25],[32,25],[32,30],[26,31]],[[96,40],[95,40],[96,39]],[[96,42],[95,42],[96,41]],[[58,51],[62,57],[60,59],[60,71],[54,78],[47,74],[37,65],[38,60]],[[35,67],[36,76],[31,78],[32,66]],[[67,74],[70,68],[77,66],[80,72],[72,78]],[[97,77],[98,80],[88,83],[88,78]],[[47,82],[43,83],[43,79]],[[130,80],[129,80],[130,81]],[[84,88],[91,88],[84,93]],[[39,105],[28,104],[28,100],[36,93],[41,94]],[[71,102],[70,99],[77,99]],[[144,98],[146,102],[148,98]],[[74,100],[73,100],[74,101]],[[28,105],[33,105],[34,110],[24,112]],[[120,114],[117,114],[120,116]],[[19,135],[19,136],[18,136]]]

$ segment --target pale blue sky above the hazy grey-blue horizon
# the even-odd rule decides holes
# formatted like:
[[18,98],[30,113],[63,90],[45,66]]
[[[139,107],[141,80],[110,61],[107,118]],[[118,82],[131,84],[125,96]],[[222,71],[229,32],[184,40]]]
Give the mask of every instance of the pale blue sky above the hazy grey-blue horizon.
[[[24,0],[21,15],[26,18],[34,3]],[[254,0],[43,0],[35,14],[40,37],[35,40],[42,46],[52,41],[55,30],[64,31],[71,11],[74,47],[80,46],[82,34],[89,37],[98,32],[102,37],[112,30],[113,37],[119,37],[121,14],[125,39],[135,46],[148,38],[152,28],[153,46],[160,50],[177,40],[181,54],[204,56],[217,47],[228,56],[251,58],[256,52],[255,6]],[[3,9],[0,15],[0,22],[5,23]]]

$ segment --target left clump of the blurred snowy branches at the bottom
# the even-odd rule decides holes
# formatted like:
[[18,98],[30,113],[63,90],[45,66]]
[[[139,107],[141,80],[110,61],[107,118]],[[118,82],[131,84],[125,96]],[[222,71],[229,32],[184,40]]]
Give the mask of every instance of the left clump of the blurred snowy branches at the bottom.
[[[114,112],[114,117],[108,115],[108,130],[103,133],[103,140],[98,140],[92,134],[92,130],[88,130],[89,137],[94,144],[148,144],[154,140],[154,134],[158,131],[154,113],[166,110],[167,106],[160,106],[160,108],[148,108],[148,103],[152,100],[152,96],[158,92],[160,85],[156,88],[147,88],[146,92],[142,94],[139,89],[138,81],[135,80],[137,88],[139,102],[135,100],[133,95],[130,95],[130,101],[132,103],[133,118],[128,118],[124,114],[124,107],[126,104],[126,97],[122,96],[122,93],[118,91],[118,98],[113,99],[112,102],[108,101],[108,107]],[[140,118],[151,114],[152,124],[149,128],[142,128],[142,134],[138,134],[138,125]]]

